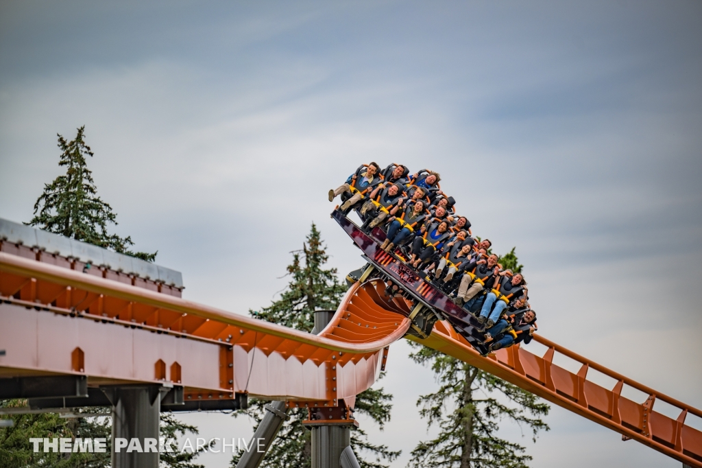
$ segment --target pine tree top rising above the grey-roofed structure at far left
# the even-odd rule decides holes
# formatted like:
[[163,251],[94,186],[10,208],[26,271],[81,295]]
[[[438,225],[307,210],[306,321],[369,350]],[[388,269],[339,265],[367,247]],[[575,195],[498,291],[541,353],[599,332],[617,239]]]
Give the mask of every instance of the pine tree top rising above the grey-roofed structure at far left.
[[131,237],[121,238],[107,233],[108,223],[117,225],[117,214],[97,195],[93,173],[86,162],[86,157],[93,157],[93,152],[84,141],[84,131],[85,126],[81,126],[72,141],[58,135],[58,147],[62,151],[58,165],[66,167],[66,174],[44,185],[44,193],[34,204],[34,217],[29,225],[120,254],[154,261],[158,252],[131,252],[129,247],[134,245]]

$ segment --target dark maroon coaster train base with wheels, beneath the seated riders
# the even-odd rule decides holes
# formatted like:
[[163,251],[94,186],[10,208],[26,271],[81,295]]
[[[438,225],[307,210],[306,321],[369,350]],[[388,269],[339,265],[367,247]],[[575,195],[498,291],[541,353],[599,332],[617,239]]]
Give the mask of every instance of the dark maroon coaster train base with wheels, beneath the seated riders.
[[[420,273],[406,266],[403,259],[380,249],[380,243],[385,240],[382,230],[375,228],[370,235],[366,234],[338,209],[331,213],[331,217],[350,235],[357,247],[363,251],[363,258],[369,263],[368,266],[349,273],[348,282],[364,282],[373,275],[390,286],[393,293],[391,297],[394,294],[402,294],[413,301],[414,308],[409,316],[413,320],[411,333],[420,338],[428,337],[437,320],[448,320],[456,332],[479,353],[485,356],[489,352],[484,344],[481,331],[483,326],[475,317],[453,304],[444,292],[432,284],[430,278],[420,276]],[[393,290],[393,285],[397,286],[397,292]]]

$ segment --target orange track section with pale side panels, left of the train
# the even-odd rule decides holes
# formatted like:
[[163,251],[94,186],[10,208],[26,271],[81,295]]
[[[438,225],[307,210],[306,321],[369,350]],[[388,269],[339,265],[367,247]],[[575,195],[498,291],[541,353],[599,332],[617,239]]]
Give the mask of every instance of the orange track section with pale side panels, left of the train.
[[[408,318],[375,305],[359,285],[315,336],[2,252],[0,295],[0,337],[15,346],[0,357],[0,375],[77,373],[88,375],[89,384],[107,384],[160,382],[170,369],[168,380],[183,384],[186,398],[232,398],[244,391],[335,404],[375,382],[385,348],[410,326]],[[60,320],[69,316],[82,320]],[[100,340],[110,346],[101,349]],[[43,351],[22,358],[32,349]],[[84,356],[84,371],[58,349]],[[96,362],[103,355],[112,367]]]

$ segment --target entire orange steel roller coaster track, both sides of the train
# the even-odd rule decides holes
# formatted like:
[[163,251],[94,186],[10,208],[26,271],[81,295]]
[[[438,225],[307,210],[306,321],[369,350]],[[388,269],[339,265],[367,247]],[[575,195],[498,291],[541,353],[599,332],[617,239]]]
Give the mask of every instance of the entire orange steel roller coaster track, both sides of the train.
[[[168,381],[183,385],[187,399],[246,392],[290,405],[336,406],[341,398],[352,405],[384,368],[388,346],[407,337],[702,468],[702,432],[684,424],[700,410],[540,336],[543,358],[519,346],[484,358],[444,321],[427,339],[406,334],[411,302],[385,296],[378,280],[352,285],[316,336],[2,252],[0,295],[0,377],[86,375],[92,386]],[[555,353],[581,370],[559,368]],[[590,382],[590,368],[617,384]],[[648,398],[621,396],[625,385]],[[654,411],[656,400],[680,408],[677,420]]]

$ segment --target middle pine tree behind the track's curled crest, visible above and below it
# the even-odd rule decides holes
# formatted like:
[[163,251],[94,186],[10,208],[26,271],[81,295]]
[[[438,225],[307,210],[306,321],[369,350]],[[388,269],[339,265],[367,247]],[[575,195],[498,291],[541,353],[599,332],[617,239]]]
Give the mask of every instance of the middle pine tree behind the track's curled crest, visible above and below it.
[[[272,323],[285,325],[297,330],[310,331],[314,327],[314,311],[336,310],[341,297],[346,291],[338,278],[336,268],[324,269],[329,256],[324,250],[317,226],[312,223],[310,234],[303,243],[303,249],[291,252],[293,262],[287,267],[291,280],[280,299],[260,311],[249,311],[253,317]],[[302,263],[304,260],[304,264]],[[356,398],[355,410],[371,417],[380,428],[390,420],[390,401],[392,395],[385,393],[382,388],[368,389]],[[268,401],[252,400],[248,410],[235,413],[235,416],[247,415],[258,426],[265,415],[263,406]],[[300,408],[290,410],[290,419],[280,429],[277,438],[266,454],[261,467],[263,468],[303,468],[312,466],[312,439],[310,431],[305,429],[302,421],[307,418],[307,411]],[[392,461],[399,452],[388,449],[387,446],[376,446],[370,443],[364,431],[352,430],[351,446],[358,456],[359,463],[364,468],[383,468],[383,460]],[[370,453],[375,461],[365,460],[361,453]],[[232,458],[231,466],[235,467],[241,454]]]

